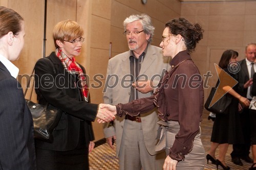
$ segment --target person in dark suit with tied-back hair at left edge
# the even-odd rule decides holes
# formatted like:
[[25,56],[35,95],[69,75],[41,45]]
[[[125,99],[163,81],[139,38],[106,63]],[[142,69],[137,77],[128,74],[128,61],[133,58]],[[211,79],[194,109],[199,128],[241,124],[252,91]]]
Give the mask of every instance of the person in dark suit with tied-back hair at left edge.
[[36,169],[33,120],[17,82],[17,60],[24,46],[24,19],[0,7],[0,169]]

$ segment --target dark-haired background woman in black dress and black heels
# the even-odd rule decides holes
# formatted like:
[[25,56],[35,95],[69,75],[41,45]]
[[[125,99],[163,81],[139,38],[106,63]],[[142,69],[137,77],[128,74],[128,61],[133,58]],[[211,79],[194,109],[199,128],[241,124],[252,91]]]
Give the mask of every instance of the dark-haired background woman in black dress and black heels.
[[[227,72],[227,74],[230,75],[233,79],[238,79],[237,75],[232,74],[232,72],[230,72],[228,69],[228,66],[231,62],[234,62],[233,64],[238,64],[236,63],[237,61],[238,52],[236,51],[226,50],[222,54],[219,62],[219,66],[223,69],[219,75],[220,80],[225,79],[225,74],[223,74],[223,71]],[[219,84],[220,81],[218,80],[217,85]],[[244,106],[249,106],[249,100],[236,92],[237,85],[233,88],[227,84],[222,84],[221,86],[222,87],[219,88],[222,88],[225,92],[227,92],[225,95],[228,95],[228,97],[231,98],[231,104],[225,110],[224,114],[216,114],[211,134],[211,148],[206,155],[206,159],[207,163],[209,160],[211,160],[212,163],[217,164],[217,169],[219,165],[221,165],[223,169],[230,169],[230,167],[225,163],[225,155],[228,149],[228,145],[242,142],[241,138],[239,137],[239,134],[242,132],[240,133],[241,130],[236,128],[239,124],[239,102]],[[215,152],[218,147],[220,147],[219,158],[216,160]]]

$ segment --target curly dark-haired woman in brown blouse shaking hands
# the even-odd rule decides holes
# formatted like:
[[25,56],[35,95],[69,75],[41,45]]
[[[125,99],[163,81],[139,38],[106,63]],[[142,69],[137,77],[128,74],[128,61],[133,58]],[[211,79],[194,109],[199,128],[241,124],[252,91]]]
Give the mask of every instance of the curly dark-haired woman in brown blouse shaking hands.
[[[165,72],[155,95],[127,104],[105,105],[119,116],[136,116],[157,107],[165,124],[166,159],[164,170],[204,169],[205,151],[201,142],[200,123],[204,103],[203,80],[190,53],[203,38],[201,26],[185,18],[168,21],[162,35],[164,57],[172,57],[172,69]],[[163,128],[164,129],[164,128]],[[162,141],[164,137],[160,139]]]

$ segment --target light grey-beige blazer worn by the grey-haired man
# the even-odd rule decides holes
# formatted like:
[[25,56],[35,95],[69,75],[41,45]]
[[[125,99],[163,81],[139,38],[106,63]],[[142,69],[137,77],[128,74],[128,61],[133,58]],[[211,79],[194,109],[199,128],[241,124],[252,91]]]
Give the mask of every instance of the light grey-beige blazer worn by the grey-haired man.
[[[103,100],[106,104],[116,105],[119,103],[128,103],[130,99],[131,88],[127,87],[131,84],[130,75],[130,51],[119,54],[109,60],[108,71],[106,74],[106,84],[103,93]],[[168,58],[162,56],[162,49],[148,45],[146,56],[144,58],[140,75],[144,75],[139,80],[152,80],[154,78],[154,85],[157,86],[160,76],[167,69]],[[158,75],[158,76],[157,76]],[[145,78],[147,77],[147,78]],[[124,79],[125,78],[125,79]],[[124,81],[125,80],[125,81]],[[108,86],[108,87],[107,87]],[[139,98],[146,98],[153,95],[153,92],[139,93]],[[157,144],[157,131],[159,125],[157,124],[159,118],[156,109],[141,115],[141,123],[143,129],[144,142],[148,153],[156,155],[155,147]],[[114,126],[111,123],[103,124],[103,132],[105,137],[116,135],[116,155],[119,155],[121,138],[123,133],[125,119],[124,117],[116,117]],[[164,151],[164,150],[163,150]],[[163,152],[161,151],[161,152]]]

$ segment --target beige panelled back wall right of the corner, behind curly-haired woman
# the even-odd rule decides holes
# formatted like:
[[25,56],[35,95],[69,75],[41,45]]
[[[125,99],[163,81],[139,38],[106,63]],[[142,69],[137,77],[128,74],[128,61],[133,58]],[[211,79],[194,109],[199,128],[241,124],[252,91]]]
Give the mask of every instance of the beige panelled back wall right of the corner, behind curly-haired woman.
[[[181,16],[202,24],[204,39],[197,46],[193,59],[201,75],[211,71],[213,78],[208,85],[215,86],[217,74],[214,63],[218,64],[222,53],[232,49],[244,59],[245,46],[256,42],[255,1],[182,3]],[[205,89],[207,98],[210,89]]]

